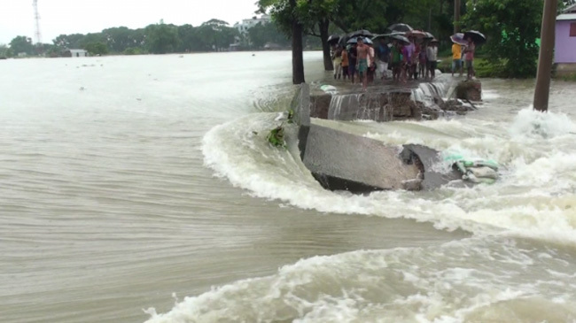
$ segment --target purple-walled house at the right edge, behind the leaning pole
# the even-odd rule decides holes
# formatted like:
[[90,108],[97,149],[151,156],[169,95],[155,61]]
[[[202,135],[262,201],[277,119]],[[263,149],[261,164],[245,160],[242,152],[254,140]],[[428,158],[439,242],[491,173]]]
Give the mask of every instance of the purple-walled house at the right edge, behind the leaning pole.
[[576,4],[566,8],[556,19],[557,75],[576,73]]

